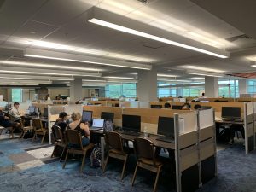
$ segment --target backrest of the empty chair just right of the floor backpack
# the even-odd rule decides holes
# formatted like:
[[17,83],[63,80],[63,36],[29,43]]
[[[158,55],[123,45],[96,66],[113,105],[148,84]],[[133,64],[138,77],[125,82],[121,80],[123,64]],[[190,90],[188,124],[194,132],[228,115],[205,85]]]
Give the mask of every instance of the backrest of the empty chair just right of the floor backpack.
[[124,151],[122,137],[117,132],[106,132],[106,143],[109,145],[110,148]]

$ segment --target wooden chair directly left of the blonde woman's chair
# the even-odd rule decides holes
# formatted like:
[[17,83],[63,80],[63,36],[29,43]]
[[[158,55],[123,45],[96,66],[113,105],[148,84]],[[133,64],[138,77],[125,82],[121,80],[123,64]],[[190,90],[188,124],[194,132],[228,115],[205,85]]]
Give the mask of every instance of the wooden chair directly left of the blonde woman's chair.
[[61,148],[63,148],[62,153],[61,153],[61,159],[62,160],[62,156],[67,148],[67,143],[65,142],[65,139],[63,137],[62,131],[61,131],[61,127],[57,126],[57,125],[53,125],[51,127],[52,133],[53,133],[53,137],[55,140],[55,148],[51,154],[51,158],[55,155],[55,151],[57,146],[60,146]]

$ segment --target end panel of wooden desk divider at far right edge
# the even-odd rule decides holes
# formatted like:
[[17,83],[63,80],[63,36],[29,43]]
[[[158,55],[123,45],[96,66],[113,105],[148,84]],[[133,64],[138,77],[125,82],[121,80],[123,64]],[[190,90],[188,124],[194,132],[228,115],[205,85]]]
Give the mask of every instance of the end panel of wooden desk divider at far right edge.
[[244,102],[244,133],[246,154],[255,149],[253,121],[253,102]]

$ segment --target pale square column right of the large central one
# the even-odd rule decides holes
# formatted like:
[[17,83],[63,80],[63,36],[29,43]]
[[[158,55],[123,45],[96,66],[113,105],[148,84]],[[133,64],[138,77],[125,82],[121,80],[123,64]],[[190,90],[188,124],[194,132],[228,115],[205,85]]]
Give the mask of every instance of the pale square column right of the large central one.
[[218,97],[218,78],[205,77],[205,96]]

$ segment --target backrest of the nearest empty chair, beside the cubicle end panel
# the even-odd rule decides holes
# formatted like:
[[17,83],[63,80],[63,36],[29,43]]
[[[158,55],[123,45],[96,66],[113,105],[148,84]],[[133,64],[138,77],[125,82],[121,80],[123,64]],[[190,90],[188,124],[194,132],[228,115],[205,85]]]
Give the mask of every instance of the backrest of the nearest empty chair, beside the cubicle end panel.
[[145,138],[137,137],[133,141],[133,147],[137,158],[153,160],[155,165],[154,144]]

